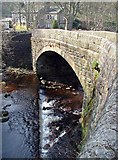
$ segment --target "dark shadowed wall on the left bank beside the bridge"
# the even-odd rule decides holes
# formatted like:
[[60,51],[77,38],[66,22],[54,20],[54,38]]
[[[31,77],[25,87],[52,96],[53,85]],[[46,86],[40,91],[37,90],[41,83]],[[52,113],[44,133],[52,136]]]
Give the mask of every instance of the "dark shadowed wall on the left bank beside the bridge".
[[3,32],[2,60],[6,67],[32,69],[31,33]]

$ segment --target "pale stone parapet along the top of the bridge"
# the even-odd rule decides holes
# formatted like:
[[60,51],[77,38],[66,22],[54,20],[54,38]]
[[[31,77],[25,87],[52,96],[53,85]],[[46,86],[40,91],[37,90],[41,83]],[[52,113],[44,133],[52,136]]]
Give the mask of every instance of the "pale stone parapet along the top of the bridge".
[[[38,36],[37,36],[38,35]],[[83,45],[88,42],[88,45],[93,43],[100,45],[101,39],[105,38],[113,43],[117,41],[117,33],[107,31],[65,31],[60,29],[36,29],[33,31],[32,37],[46,38],[59,40],[74,46],[77,46],[77,42],[84,42]],[[87,49],[89,46],[87,47]]]

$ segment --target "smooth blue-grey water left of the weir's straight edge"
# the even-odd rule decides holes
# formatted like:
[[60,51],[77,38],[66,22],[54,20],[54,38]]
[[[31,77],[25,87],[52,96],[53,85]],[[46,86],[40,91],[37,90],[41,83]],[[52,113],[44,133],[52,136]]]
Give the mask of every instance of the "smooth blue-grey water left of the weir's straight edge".
[[2,109],[9,111],[9,121],[2,124],[3,158],[39,157],[39,108],[35,103],[36,94],[37,83],[29,87],[26,79],[24,82],[8,80],[3,88]]

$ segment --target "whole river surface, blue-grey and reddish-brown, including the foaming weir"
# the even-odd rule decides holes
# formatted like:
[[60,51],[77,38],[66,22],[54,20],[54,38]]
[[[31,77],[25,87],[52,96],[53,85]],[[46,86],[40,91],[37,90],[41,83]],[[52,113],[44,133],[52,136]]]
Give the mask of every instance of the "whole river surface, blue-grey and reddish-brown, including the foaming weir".
[[83,93],[63,84],[41,87],[34,76],[6,81],[0,93],[3,158],[73,158],[81,140]]

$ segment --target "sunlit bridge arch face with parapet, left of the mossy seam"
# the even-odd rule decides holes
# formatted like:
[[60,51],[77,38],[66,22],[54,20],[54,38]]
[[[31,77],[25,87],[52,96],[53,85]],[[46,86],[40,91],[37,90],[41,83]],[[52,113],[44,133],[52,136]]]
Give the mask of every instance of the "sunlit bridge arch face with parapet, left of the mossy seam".
[[115,38],[115,33],[99,31],[34,30],[33,69],[36,70],[36,62],[41,54],[54,51],[69,63],[89,97],[95,85],[97,74],[95,64],[100,67],[105,61],[105,54],[110,57],[115,55],[113,46]]

